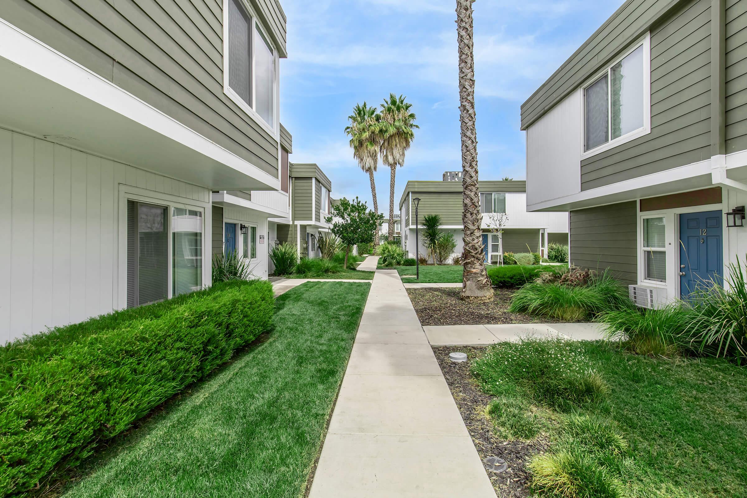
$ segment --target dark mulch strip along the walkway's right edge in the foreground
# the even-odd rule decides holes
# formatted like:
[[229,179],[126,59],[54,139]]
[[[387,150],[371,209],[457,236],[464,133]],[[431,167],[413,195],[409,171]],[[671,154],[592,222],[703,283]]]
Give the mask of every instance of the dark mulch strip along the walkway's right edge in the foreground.
[[[441,289],[447,290],[447,289]],[[422,320],[422,319],[421,319]],[[548,447],[547,441],[505,441],[493,432],[492,422],[485,414],[485,408],[492,396],[483,393],[469,373],[471,359],[483,354],[484,347],[443,346],[434,347],[438,365],[454,396],[456,406],[462,413],[462,419],[472,437],[480,460],[485,462],[489,456],[503,458],[508,468],[502,473],[486,469],[490,482],[499,498],[529,497],[530,475],[526,470],[529,458]],[[454,363],[449,353],[461,351],[467,353],[467,361]]]

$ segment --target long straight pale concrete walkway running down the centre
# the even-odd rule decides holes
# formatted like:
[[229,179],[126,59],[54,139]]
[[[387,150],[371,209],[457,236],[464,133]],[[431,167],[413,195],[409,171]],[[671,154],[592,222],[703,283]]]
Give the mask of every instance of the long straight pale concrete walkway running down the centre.
[[495,498],[396,270],[376,270],[309,496]]

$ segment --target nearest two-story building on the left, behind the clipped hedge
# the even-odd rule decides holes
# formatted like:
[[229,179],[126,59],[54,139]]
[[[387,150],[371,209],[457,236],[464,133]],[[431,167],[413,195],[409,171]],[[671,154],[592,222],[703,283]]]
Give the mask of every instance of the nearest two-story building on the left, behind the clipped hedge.
[[285,29],[276,0],[2,2],[0,342],[211,284],[213,192],[280,189]]

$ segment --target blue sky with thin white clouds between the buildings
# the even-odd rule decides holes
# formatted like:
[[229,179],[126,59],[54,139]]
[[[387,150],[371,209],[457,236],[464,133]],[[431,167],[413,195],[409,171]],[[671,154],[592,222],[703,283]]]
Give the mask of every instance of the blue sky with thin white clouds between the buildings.
[[[344,127],[358,102],[404,94],[420,129],[397,169],[395,211],[408,180],[462,169],[455,0],[282,0],[288,59],[280,63],[280,117],[291,162],[319,164],[335,198],[371,206],[368,175]],[[478,164],[481,179],[524,178],[519,107],[622,0],[478,0],[474,6]],[[389,169],[376,172],[388,213]]]

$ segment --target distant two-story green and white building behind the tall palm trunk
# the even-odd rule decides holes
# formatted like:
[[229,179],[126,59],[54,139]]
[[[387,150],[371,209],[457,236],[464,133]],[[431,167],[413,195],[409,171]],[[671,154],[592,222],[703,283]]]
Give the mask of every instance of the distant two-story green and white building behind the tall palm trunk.
[[[548,243],[568,243],[568,213],[528,213],[526,208],[527,182],[480,180],[480,211],[483,214],[483,249],[487,263],[495,263],[503,252],[540,252],[547,254]],[[462,181],[460,176],[444,174],[443,181],[408,181],[400,198],[402,246],[415,255],[415,202],[418,203],[419,222],[426,214],[441,216],[441,228],[454,234],[456,249],[461,255],[462,240]],[[495,233],[495,218],[506,215],[502,234]],[[500,240],[502,239],[502,240]],[[425,254],[422,239],[420,253]]]

